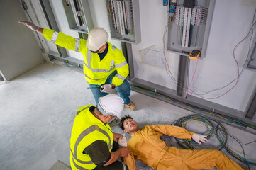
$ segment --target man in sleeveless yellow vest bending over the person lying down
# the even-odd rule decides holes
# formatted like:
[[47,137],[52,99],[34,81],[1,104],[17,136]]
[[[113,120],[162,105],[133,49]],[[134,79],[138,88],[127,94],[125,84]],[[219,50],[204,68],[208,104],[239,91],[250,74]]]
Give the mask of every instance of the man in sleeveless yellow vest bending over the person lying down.
[[112,132],[108,123],[121,116],[123,99],[115,94],[99,98],[95,106],[78,109],[74,118],[70,139],[70,165],[72,169],[128,169],[118,162],[128,157],[128,147],[118,149],[118,138],[123,135]]

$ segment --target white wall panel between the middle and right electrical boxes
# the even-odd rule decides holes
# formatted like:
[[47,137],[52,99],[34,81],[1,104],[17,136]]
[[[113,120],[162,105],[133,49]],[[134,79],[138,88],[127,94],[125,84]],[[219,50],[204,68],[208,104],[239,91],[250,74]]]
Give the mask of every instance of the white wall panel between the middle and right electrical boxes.
[[[169,78],[165,69],[140,62],[140,50],[154,45],[163,49],[162,38],[167,24],[167,7],[162,6],[162,1],[140,0],[140,24],[141,42],[132,45],[135,77],[176,89],[174,81]],[[177,79],[179,56],[167,53],[166,57],[172,57],[169,69]]]

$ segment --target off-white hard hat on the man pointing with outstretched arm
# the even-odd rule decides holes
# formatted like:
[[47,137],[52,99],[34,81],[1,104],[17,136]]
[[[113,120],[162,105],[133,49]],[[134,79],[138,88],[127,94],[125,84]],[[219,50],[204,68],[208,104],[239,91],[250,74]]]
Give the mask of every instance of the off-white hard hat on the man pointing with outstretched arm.
[[94,28],[89,32],[87,48],[91,51],[99,50],[108,42],[108,33],[103,28]]

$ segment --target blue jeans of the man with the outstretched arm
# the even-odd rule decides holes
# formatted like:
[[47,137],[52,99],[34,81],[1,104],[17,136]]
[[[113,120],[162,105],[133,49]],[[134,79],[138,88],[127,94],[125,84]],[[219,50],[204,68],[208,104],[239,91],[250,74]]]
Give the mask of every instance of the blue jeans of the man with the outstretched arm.
[[[112,79],[113,77],[116,75],[116,71],[113,72],[112,74],[110,74],[108,76],[108,79],[106,79],[105,84],[111,84],[112,83]],[[90,87],[100,87],[104,84],[101,85],[96,85],[96,84],[89,84]],[[123,84],[121,84],[120,86],[116,86],[116,90],[118,91],[119,95],[121,98],[123,98],[123,101],[125,104],[130,103],[130,84],[128,83],[128,81],[125,79],[123,81]],[[100,89],[91,89],[92,94],[94,95],[94,99],[96,101],[96,103],[99,102],[99,97],[103,97],[106,96],[107,93],[102,93],[100,91]]]

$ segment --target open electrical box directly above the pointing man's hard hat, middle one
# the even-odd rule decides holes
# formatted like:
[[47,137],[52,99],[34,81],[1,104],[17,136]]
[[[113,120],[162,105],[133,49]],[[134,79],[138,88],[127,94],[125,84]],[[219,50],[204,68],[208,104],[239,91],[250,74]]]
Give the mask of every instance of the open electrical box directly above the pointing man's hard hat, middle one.
[[106,0],[111,38],[140,42],[139,0]]

